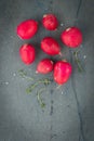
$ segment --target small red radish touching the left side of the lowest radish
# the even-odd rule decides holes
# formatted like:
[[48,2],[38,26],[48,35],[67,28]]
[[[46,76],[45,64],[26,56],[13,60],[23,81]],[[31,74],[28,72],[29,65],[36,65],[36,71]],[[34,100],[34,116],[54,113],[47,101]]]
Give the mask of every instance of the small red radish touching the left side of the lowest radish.
[[43,59],[39,62],[37,66],[37,73],[48,74],[53,70],[53,61],[50,59]]

